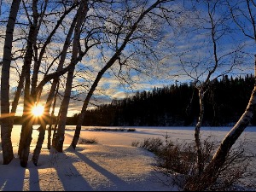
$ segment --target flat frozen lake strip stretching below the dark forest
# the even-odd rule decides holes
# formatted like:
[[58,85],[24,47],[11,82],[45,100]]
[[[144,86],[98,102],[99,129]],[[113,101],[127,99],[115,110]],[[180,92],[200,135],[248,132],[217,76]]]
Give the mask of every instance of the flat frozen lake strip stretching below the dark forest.
[[[38,125],[34,125],[32,134],[32,146],[34,146],[38,139]],[[20,139],[21,125],[15,125],[12,131],[13,145],[17,146]],[[135,129],[136,131],[93,131],[94,129],[107,128],[107,129]],[[67,125],[65,134],[65,146],[69,146],[72,141],[75,126]],[[96,137],[98,143],[108,145],[129,145],[133,141],[143,141],[148,137],[162,137],[166,134],[173,141],[186,141],[188,143],[194,141],[194,129],[192,126],[173,126],[173,127],[146,127],[146,126],[117,126],[117,127],[104,127],[104,126],[83,126],[80,137]],[[215,141],[221,142],[225,135],[230,131],[231,127],[202,127],[201,139],[211,138]],[[47,138],[47,131],[46,136]],[[44,144],[46,144],[46,139]],[[241,134],[238,143],[246,143],[249,150],[256,148],[256,127],[248,126],[247,129]],[[45,147],[45,145],[44,145]]]

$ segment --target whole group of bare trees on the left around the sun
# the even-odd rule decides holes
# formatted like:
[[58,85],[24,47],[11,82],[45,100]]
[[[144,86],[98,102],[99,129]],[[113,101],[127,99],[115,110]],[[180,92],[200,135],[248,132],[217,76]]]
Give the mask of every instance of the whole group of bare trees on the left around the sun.
[[[166,3],[172,1],[157,0],[154,3],[150,4],[146,1],[144,3],[129,4],[127,2],[119,3],[119,8],[122,8],[125,15],[119,15],[113,6],[113,2],[98,2],[98,1],[60,1],[56,2],[55,7],[60,7],[60,11],[51,13],[51,2],[49,1],[38,1],[32,0],[32,2],[13,1],[12,7],[10,8],[9,22],[7,25],[6,38],[5,38],[5,47],[3,54],[3,70],[2,70],[2,86],[1,86],[1,106],[2,106],[2,145],[3,145],[3,159],[4,164],[9,164],[9,162],[14,158],[12,143],[11,143],[11,129],[14,123],[15,112],[20,100],[21,92],[24,91],[24,102],[23,102],[23,115],[22,115],[22,128],[20,133],[20,143],[18,155],[20,157],[20,166],[26,167],[28,156],[30,153],[30,145],[32,142],[32,125],[35,118],[32,115],[32,107],[37,105],[41,101],[41,94],[44,93],[44,85],[49,81],[51,82],[51,87],[48,93],[46,103],[44,105],[44,116],[40,118],[40,128],[38,129],[38,143],[34,149],[32,156],[32,161],[35,165],[38,164],[39,154],[44,143],[44,135],[46,126],[50,125],[49,128],[49,137],[48,137],[48,148],[50,148],[51,140],[51,124],[53,122],[51,116],[49,115],[50,108],[54,112],[56,96],[59,91],[59,80],[61,75],[67,73],[66,88],[64,90],[63,100],[61,102],[61,108],[59,112],[60,119],[54,129],[53,135],[53,147],[58,151],[62,152],[63,142],[65,139],[65,125],[67,122],[67,111],[70,102],[70,97],[73,88],[73,78],[75,67],[82,61],[88,51],[94,48],[96,45],[106,44],[104,46],[114,47],[113,55],[110,56],[109,60],[106,61],[102,69],[97,73],[96,79],[90,85],[87,96],[84,100],[84,105],[79,117],[79,124],[75,131],[73,137],[72,146],[76,148],[76,145],[79,140],[79,132],[81,128],[81,122],[84,119],[84,113],[88,107],[91,96],[93,96],[94,91],[96,90],[97,85],[104,73],[108,71],[116,61],[119,61],[119,64],[122,65],[120,57],[127,44],[131,44],[134,39],[140,39],[139,41],[146,43],[146,38],[140,36],[139,32],[142,31],[143,25],[139,26],[140,23],[145,20],[148,15],[153,15],[151,11],[157,9],[159,6],[164,6]],[[25,10],[23,14],[26,15],[28,21],[28,33],[26,37],[26,49],[25,55],[23,58],[22,72],[20,73],[20,80],[15,92],[15,100],[12,104],[11,113],[9,113],[9,74],[12,61],[12,43],[14,38],[15,31],[15,22],[17,19],[17,14],[19,10]],[[30,9],[31,8],[31,9]],[[142,11],[132,12],[132,9],[140,8]],[[94,11],[90,17],[95,17],[99,23],[98,25],[93,26],[87,15],[89,9]],[[97,10],[99,9],[99,10]],[[116,16],[119,16],[119,22],[116,22],[117,18],[109,19],[109,15],[97,15],[101,13],[100,11],[105,10],[106,13],[113,11]],[[97,12],[99,11],[99,12]],[[21,12],[20,12],[21,13]],[[57,15],[58,20],[55,22],[55,26],[47,29],[47,17]],[[160,17],[160,15],[159,15]],[[133,20],[131,22],[131,19]],[[57,69],[53,73],[49,73],[49,70],[52,70],[50,67],[53,66],[54,62],[49,65],[44,74],[43,79],[38,81],[38,76],[40,72],[40,67],[44,61],[44,57],[47,57],[47,51],[49,45],[55,43],[55,35],[58,30],[61,30],[64,21],[70,22],[70,27],[66,35],[66,40],[64,41],[63,47],[58,55],[56,55],[54,61],[59,61]],[[71,21],[70,21],[71,20]],[[113,28],[108,28],[107,25],[102,25],[102,23],[108,22],[108,25],[115,25]],[[147,26],[148,27],[148,26]],[[150,27],[148,27],[150,28]],[[49,33],[46,33],[46,31]],[[42,38],[42,32],[45,33],[46,38]],[[137,33],[138,32],[138,33]],[[103,34],[103,35],[102,35]],[[111,37],[113,35],[113,37]],[[107,37],[107,38],[106,38]],[[115,42],[110,41],[111,38],[115,38]],[[42,41],[41,39],[44,39]],[[81,42],[84,40],[84,45]],[[41,42],[40,42],[41,41]],[[107,43],[106,43],[107,42]],[[137,41],[138,43],[138,41]],[[42,44],[42,46],[38,46]],[[71,48],[71,57],[68,58],[69,50]],[[83,50],[84,49],[84,50]],[[58,59],[60,57],[60,59]],[[22,58],[22,56],[21,56]],[[67,67],[64,67],[67,60],[70,59]],[[118,67],[118,66],[117,66]],[[53,116],[53,115],[52,115]]]

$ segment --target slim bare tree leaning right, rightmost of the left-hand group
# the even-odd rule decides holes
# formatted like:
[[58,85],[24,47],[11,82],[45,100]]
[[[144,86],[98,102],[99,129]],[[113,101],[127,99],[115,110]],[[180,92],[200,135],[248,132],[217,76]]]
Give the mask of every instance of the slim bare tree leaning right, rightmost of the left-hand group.
[[[124,13],[121,13],[122,17],[120,19],[120,22],[118,23],[117,20],[108,20],[109,22],[109,28],[110,30],[113,29],[114,31],[110,31],[110,34],[113,35],[113,55],[110,57],[110,59],[106,62],[104,67],[100,70],[99,73],[96,75],[96,79],[93,81],[93,84],[90,86],[90,90],[88,91],[88,94],[84,100],[84,105],[81,110],[81,113],[79,114],[79,121],[76,126],[75,134],[73,137],[73,142],[71,146],[73,148],[76,148],[76,145],[79,141],[79,135],[81,131],[81,126],[84,121],[85,117],[85,112],[88,107],[88,104],[90,102],[90,98],[93,95],[94,91],[96,90],[97,85],[99,84],[100,80],[102,79],[102,76],[104,73],[108,71],[110,67],[113,66],[113,64],[116,63],[116,61],[119,61],[120,64],[120,71],[121,67],[127,63],[121,62],[120,57],[122,55],[122,52],[124,51],[125,47],[127,44],[132,44],[132,42],[136,42],[136,40],[140,39],[140,36],[136,35],[136,32],[139,34],[142,34],[143,32],[143,27],[142,26],[147,26],[146,19],[148,15],[150,15],[154,9],[160,8],[161,6],[164,5],[164,3],[171,2],[171,1],[161,1],[157,0],[152,4],[149,4],[147,2],[140,2],[140,6],[138,6],[136,3],[134,4],[133,9],[129,8],[129,4],[125,4],[125,9]],[[147,7],[148,6],[148,7]],[[153,13],[154,15],[154,13]],[[150,16],[148,16],[150,18]],[[148,19],[147,18],[147,19]],[[148,23],[149,23],[148,19]],[[148,24],[149,26],[149,24]],[[145,29],[145,28],[144,28]],[[146,35],[145,35],[146,36]],[[147,39],[141,38],[144,42],[147,41]],[[136,44],[136,43],[135,43]],[[128,56],[129,58],[129,56]],[[119,71],[119,72],[120,72]]]

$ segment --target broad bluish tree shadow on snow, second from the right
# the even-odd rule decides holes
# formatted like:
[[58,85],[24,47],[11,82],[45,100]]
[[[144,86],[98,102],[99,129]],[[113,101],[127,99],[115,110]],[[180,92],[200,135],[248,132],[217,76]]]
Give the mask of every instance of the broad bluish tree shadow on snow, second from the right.
[[[61,154],[61,157],[63,157],[63,160],[70,158],[67,154]],[[55,166],[65,191],[92,191],[90,184],[80,175],[76,167],[73,166],[72,161],[67,160],[66,162],[64,169],[63,166]]]

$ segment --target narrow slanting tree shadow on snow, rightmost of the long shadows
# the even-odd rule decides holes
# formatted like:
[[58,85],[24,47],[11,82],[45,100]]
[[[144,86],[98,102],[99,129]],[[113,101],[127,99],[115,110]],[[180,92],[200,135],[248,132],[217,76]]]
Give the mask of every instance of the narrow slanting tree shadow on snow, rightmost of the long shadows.
[[102,166],[97,165],[95,162],[84,156],[84,154],[81,154],[78,151],[75,151],[74,154],[77,154],[79,158],[84,161],[84,163],[88,164],[97,172],[100,172],[102,175],[107,177],[117,187],[117,190],[129,189],[127,188],[129,186],[128,183],[125,183],[124,180],[114,175],[112,172],[108,172],[108,170],[104,169]]

